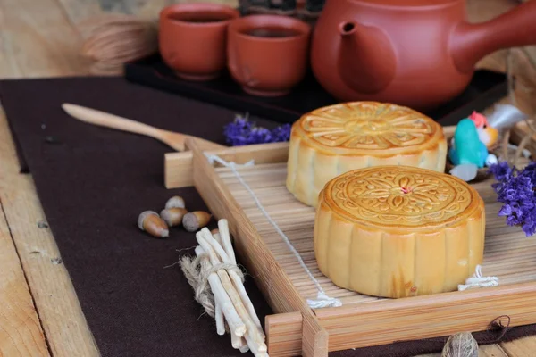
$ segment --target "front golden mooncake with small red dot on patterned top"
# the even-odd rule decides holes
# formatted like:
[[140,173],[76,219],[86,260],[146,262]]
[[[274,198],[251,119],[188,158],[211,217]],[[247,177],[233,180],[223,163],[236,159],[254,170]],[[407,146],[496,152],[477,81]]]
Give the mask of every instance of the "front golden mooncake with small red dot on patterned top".
[[314,254],[334,284],[399,298],[457,289],[482,264],[484,203],[461,179],[381,166],[348,171],[319,195]]

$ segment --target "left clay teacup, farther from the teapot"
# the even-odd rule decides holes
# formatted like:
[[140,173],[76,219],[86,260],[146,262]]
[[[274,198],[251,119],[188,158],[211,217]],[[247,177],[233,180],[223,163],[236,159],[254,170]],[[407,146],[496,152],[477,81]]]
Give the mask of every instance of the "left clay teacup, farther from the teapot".
[[178,77],[209,80],[227,62],[227,28],[239,11],[222,4],[173,4],[160,12],[158,42],[163,61]]

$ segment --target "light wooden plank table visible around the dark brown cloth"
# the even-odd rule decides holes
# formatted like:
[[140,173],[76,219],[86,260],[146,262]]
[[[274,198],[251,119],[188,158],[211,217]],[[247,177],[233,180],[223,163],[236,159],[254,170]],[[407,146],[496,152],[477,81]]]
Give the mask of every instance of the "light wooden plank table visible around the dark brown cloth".
[[[115,11],[154,13],[170,1],[101,3]],[[472,20],[485,20],[514,5],[514,0],[470,0],[469,12]],[[78,54],[78,24],[102,12],[96,0],[0,0],[0,9],[1,79],[88,75],[88,62]],[[501,52],[479,65],[504,70],[504,59]],[[524,109],[531,105],[526,98],[518,104]],[[38,226],[46,217],[31,176],[19,173],[3,111],[0,203],[0,356],[99,355],[54,237]],[[496,357],[529,357],[535,351],[536,336],[480,349],[481,355]]]

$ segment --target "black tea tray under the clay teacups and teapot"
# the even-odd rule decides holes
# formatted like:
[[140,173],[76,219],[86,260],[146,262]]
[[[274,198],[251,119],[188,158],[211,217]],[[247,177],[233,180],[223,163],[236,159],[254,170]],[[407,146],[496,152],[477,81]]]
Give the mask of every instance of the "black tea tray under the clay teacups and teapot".
[[[237,112],[248,112],[281,123],[291,123],[306,112],[339,102],[320,86],[312,73],[308,73],[306,79],[289,95],[265,98],[245,93],[227,72],[220,78],[207,82],[179,79],[159,55],[128,63],[125,77],[130,82],[140,85],[221,105]],[[440,121],[442,125],[453,125],[473,111],[484,110],[505,95],[507,95],[505,74],[479,70],[474,73],[473,80],[465,88],[464,93],[426,114]]]

